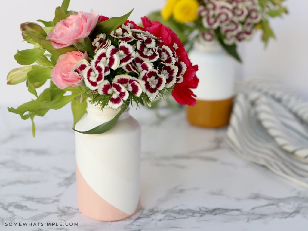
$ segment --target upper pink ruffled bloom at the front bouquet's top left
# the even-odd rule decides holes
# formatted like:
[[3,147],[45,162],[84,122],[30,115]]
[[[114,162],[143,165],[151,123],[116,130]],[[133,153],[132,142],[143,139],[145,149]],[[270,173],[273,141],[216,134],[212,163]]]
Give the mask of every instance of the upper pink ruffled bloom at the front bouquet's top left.
[[47,35],[46,39],[51,41],[55,49],[71,46],[90,35],[91,30],[97,24],[98,17],[99,14],[96,11],[90,13],[79,11],[77,15],[70,15],[57,22],[54,30]]

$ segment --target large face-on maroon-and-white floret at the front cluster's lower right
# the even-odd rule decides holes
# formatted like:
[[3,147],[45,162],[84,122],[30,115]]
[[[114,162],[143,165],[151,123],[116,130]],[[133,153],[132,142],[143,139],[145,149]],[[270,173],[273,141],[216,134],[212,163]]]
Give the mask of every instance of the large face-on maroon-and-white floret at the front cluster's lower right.
[[144,81],[143,91],[148,95],[148,97],[156,97],[159,90],[162,90],[166,85],[166,79],[157,76],[158,71],[152,69],[150,71],[142,71],[140,73],[139,79]]

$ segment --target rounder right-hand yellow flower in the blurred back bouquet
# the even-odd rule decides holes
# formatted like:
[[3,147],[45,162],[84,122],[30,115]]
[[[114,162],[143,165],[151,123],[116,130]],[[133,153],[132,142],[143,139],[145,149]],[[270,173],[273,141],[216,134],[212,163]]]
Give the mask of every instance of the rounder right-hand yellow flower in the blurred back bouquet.
[[173,17],[181,23],[193,22],[198,17],[198,7],[197,0],[180,0],[174,6]]

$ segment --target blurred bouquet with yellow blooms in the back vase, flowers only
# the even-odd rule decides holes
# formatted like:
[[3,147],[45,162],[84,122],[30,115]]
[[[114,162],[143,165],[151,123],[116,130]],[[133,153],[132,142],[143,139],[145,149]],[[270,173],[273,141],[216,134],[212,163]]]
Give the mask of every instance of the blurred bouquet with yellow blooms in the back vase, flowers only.
[[190,49],[193,42],[221,46],[238,61],[237,43],[250,40],[262,30],[262,41],[275,38],[269,18],[287,13],[285,0],[168,0],[161,11],[150,19],[159,20],[172,28]]

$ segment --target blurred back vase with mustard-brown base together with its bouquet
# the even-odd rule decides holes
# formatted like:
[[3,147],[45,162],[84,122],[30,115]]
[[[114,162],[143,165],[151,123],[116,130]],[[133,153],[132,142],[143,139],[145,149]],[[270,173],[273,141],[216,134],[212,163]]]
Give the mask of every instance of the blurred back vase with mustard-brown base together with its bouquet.
[[275,37],[269,19],[287,13],[283,2],[168,0],[161,11],[149,15],[178,34],[190,51],[190,59],[200,67],[200,83],[194,90],[197,103],[187,107],[191,124],[206,128],[229,124],[236,75],[234,60],[241,62],[237,44],[250,40],[261,30],[267,45]]

